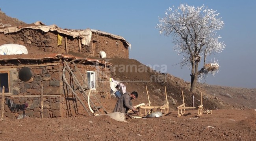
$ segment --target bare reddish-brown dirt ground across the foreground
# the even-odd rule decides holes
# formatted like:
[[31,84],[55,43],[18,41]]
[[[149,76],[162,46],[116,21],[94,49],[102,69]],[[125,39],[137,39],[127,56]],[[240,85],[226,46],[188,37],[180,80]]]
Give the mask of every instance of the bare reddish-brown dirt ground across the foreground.
[[255,110],[213,110],[196,117],[171,111],[163,117],[127,119],[108,116],[25,118],[0,122],[2,141],[255,141]]

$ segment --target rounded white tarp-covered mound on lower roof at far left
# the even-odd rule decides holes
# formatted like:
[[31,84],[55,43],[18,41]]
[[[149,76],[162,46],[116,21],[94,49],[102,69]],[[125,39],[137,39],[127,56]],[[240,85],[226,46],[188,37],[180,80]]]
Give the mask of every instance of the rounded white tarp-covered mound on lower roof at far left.
[[0,55],[28,54],[24,45],[9,43],[0,46]]

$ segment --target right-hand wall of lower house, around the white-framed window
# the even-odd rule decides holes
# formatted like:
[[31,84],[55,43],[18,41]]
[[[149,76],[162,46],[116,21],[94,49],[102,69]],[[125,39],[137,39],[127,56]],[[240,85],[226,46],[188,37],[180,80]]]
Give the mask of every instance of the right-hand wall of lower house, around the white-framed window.
[[[70,69],[74,70],[74,66],[70,65]],[[77,65],[76,71],[74,71],[74,75],[76,76],[77,80],[81,84],[82,88],[85,91],[85,97],[82,95],[83,92],[80,92],[78,87],[76,86],[76,83],[74,82],[73,78],[71,77],[72,74],[70,74],[68,71],[65,72],[66,79],[69,83],[69,85],[75,90],[74,92],[76,95],[81,99],[83,104],[85,105],[86,109],[89,111],[88,103],[87,103],[87,96],[89,95],[89,88],[87,83],[87,71],[94,71],[95,72],[95,87],[96,90],[91,90],[90,93],[90,101],[95,105],[95,107],[100,107],[101,105],[105,108],[105,110],[109,110],[108,105],[109,99],[110,99],[110,82],[109,80],[104,79],[103,81],[99,81],[98,77],[105,77],[106,78],[106,71],[107,75],[109,76],[109,68],[107,67],[105,70],[105,67],[102,65],[97,65],[95,67],[95,64],[91,65]],[[79,74],[82,74],[82,76]],[[85,80],[85,81],[84,81]],[[74,116],[74,115],[88,115],[87,111],[83,107],[83,105],[80,103],[80,101],[76,98],[76,96],[72,93],[69,87],[64,83],[63,85],[63,94],[65,95],[65,101],[64,101],[64,110],[66,113],[64,113],[64,116]],[[84,94],[84,93],[83,93]],[[101,103],[101,105],[100,105]],[[93,104],[91,104],[91,107],[93,107]],[[99,110],[100,112],[103,112],[103,109],[101,108]],[[89,111],[91,114],[91,112]]]

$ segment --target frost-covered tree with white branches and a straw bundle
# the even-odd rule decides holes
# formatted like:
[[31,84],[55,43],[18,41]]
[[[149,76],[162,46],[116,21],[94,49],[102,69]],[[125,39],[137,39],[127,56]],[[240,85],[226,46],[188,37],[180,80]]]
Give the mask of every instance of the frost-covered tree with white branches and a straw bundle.
[[[183,55],[181,68],[186,65],[191,69],[191,92],[195,92],[199,76],[214,73],[219,65],[214,62],[206,64],[206,56],[219,53],[225,48],[223,42],[218,42],[221,36],[216,36],[216,31],[223,29],[224,22],[217,18],[219,13],[208,7],[194,7],[180,4],[177,9],[171,7],[165,11],[165,17],[159,18],[160,24],[156,28],[160,34],[173,36],[174,51]],[[202,56],[204,67],[198,71]],[[208,67],[206,68],[205,67]]]

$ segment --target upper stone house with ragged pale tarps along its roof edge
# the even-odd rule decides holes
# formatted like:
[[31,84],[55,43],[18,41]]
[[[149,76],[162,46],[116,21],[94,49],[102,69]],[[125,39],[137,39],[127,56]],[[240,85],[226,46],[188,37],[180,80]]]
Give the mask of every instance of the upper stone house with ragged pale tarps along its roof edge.
[[107,58],[129,58],[128,43],[123,37],[94,29],[61,29],[56,25],[46,26],[41,22],[27,27],[7,27],[0,34],[13,39],[30,50],[68,54],[81,53],[87,57],[100,57],[100,51]]

